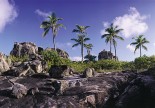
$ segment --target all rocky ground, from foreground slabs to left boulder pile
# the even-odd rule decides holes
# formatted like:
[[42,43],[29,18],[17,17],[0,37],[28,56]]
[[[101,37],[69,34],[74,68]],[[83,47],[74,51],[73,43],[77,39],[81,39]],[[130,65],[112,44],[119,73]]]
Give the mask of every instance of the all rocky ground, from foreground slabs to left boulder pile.
[[34,43],[15,43],[12,55],[29,55],[15,63],[0,53],[0,108],[155,108],[155,69],[97,73],[87,68],[75,74],[64,65],[46,72],[40,50]]

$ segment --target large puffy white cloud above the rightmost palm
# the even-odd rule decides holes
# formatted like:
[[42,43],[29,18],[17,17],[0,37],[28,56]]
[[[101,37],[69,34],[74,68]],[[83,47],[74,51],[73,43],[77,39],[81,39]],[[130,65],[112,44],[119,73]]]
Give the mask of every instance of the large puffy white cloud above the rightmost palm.
[[123,29],[122,35],[126,38],[140,35],[148,30],[145,20],[146,15],[141,15],[135,7],[130,7],[129,13],[114,19],[114,25]]

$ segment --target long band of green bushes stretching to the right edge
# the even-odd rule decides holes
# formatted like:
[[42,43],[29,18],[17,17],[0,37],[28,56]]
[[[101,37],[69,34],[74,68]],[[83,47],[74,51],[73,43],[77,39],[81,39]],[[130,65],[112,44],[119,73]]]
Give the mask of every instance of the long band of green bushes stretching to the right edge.
[[82,62],[73,62],[69,59],[64,59],[59,57],[56,51],[43,51],[42,55],[44,60],[48,63],[48,66],[51,65],[68,65],[76,72],[82,72],[87,67],[94,68],[98,72],[105,71],[122,71],[122,70],[144,70],[155,67],[155,56],[147,57],[142,56],[136,58],[134,61],[125,62],[125,61],[115,61],[115,60],[99,60],[99,61],[85,61]]

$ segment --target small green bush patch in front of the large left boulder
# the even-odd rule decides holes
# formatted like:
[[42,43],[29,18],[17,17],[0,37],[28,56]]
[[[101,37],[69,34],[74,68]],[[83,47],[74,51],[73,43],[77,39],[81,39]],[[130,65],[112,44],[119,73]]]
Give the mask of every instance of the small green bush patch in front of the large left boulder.
[[10,55],[9,58],[11,59],[12,63],[14,63],[14,62],[25,62],[25,61],[29,60],[29,56],[28,55],[24,55],[24,56],[21,56],[21,57]]

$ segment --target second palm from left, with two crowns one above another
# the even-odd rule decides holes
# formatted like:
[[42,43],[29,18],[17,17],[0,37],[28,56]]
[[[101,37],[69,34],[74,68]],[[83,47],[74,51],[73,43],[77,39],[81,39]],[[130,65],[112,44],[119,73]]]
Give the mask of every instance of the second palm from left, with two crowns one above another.
[[73,29],[73,32],[78,33],[78,39],[71,39],[73,41],[76,42],[76,44],[74,44],[72,47],[81,45],[81,56],[82,56],[82,63],[83,63],[83,48],[85,45],[85,42],[90,40],[89,38],[87,38],[87,32],[86,29],[89,28],[90,26],[80,26],[80,25],[76,25],[76,29]]

